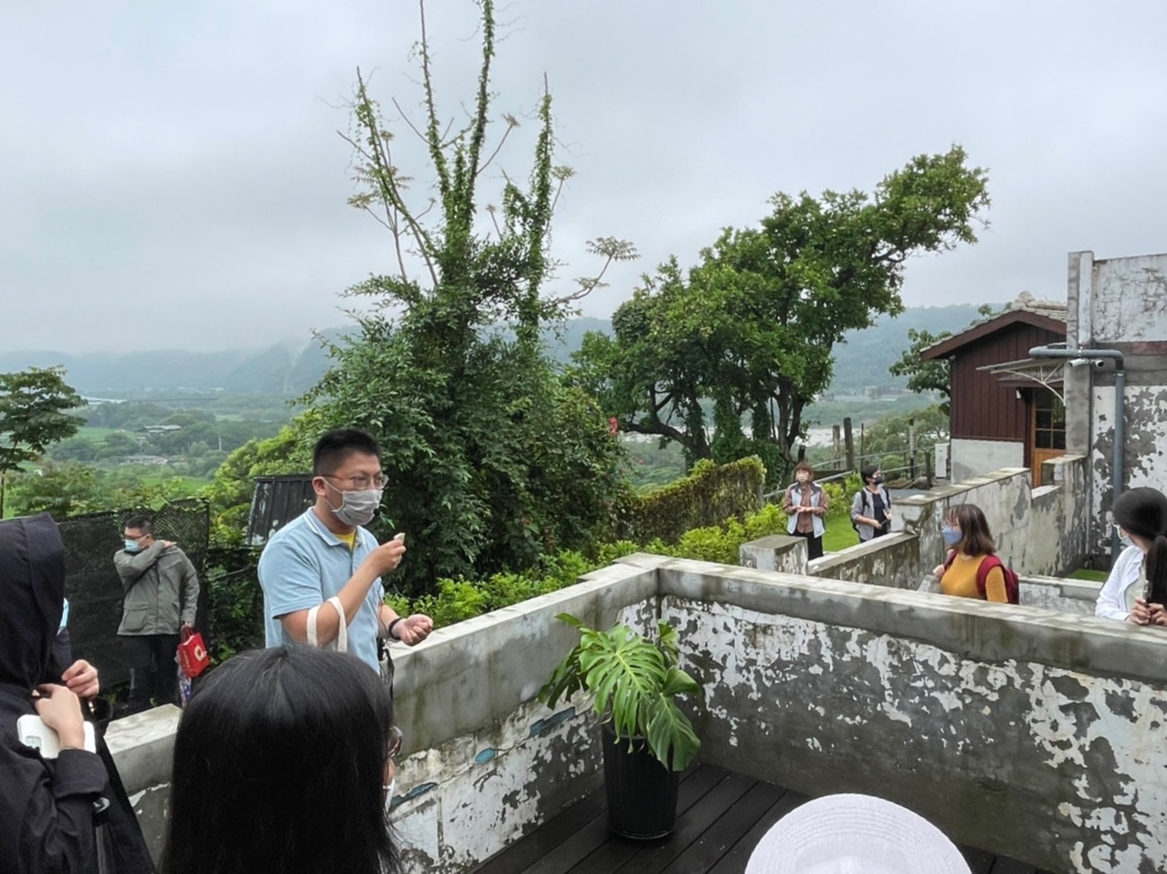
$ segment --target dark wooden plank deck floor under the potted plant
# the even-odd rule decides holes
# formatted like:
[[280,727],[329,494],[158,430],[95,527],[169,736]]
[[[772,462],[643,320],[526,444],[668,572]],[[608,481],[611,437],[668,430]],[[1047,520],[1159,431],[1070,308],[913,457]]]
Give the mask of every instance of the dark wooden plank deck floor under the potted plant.
[[[682,777],[677,827],[663,840],[613,834],[601,788],[474,874],[745,874],[767,830],[805,800],[773,783],[699,764]],[[962,851],[972,874],[1049,874],[980,849]]]

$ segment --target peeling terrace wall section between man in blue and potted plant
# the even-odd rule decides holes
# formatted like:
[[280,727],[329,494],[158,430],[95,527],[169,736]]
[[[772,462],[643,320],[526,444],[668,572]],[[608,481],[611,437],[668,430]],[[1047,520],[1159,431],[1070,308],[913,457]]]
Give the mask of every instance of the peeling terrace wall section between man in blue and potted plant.
[[582,700],[555,712],[534,701],[579,641],[555,615],[593,628],[655,628],[662,561],[631,555],[571,588],[394,650],[397,721],[410,755],[392,819],[407,870],[468,870],[595,789],[594,714]]

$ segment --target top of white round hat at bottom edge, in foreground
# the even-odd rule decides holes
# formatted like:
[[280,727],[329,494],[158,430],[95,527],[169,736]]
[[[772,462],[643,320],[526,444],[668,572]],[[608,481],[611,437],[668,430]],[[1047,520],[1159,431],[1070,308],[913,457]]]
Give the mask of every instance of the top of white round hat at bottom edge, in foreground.
[[762,835],[746,874],[970,874],[944,833],[869,795],[806,802]]

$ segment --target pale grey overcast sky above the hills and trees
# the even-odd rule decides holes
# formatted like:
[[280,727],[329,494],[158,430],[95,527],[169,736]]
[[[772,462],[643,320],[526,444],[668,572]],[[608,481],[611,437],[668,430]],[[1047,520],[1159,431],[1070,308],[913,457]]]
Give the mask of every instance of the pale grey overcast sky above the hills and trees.
[[[476,9],[429,0],[445,116],[471,98]],[[990,170],[992,226],[910,261],[909,306],[1064,299],[1067,252],[1167,251],[1161,0],[515,0],[498,18],[496,117],[529,117],[546,74],[578,174],[554,232],[565,282],[596,268],[587,239],[642,253],[586,315],[777,190],[871,189],[952,142]],[[417,112],[418,34],[404,0],[4,4],[0,349],[212,350],[343,324],[337,293],[393,267],[345,205],[343,104],[361,67]],[[420,189],[410,138],[397,163]],[[529,156],[515,139],[496,169],[525,177]]]

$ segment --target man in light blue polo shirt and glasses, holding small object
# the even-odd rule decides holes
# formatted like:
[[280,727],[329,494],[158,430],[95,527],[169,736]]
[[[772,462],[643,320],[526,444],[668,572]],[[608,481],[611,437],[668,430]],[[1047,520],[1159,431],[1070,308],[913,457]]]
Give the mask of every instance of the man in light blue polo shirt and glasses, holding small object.
[[401,562],[405,544],[378,545],[363,527],[385,485],[380,447],[356,428],[330,431],[316,442],[312,471],[316,503],[275,532],[259,558],[267,645],[307,643],[316,609],[316,645],[335,641],[343,621],[348,650],[380,670],[379,641],[412,646],[433,630],[428,616],[401,617],[383,602],[380,578]]

